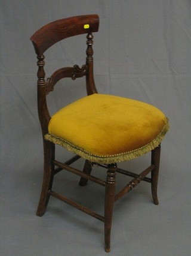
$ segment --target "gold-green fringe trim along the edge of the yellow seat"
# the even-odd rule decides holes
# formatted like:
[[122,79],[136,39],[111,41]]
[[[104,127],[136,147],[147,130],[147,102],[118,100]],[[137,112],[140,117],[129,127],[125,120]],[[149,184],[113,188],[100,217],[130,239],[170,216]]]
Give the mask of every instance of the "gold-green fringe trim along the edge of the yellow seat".
[[93,155],[92,153],[76,146],[75,144],[72,144],[69,141],[57,137],[53,134],[46,134],[45,140],[66,147],[67,150],[76,153],[76,155],[79,155],[90,162],[97,162],[98,164],[113,164],[115,162],[129,161],[155,149],[155,147],[159,146],[169,128],[170,125],[167,119],[167,123],[164,125],[162,131],[148,144],[144,145],[143,147],[139,147],[138,149],[115,155]]

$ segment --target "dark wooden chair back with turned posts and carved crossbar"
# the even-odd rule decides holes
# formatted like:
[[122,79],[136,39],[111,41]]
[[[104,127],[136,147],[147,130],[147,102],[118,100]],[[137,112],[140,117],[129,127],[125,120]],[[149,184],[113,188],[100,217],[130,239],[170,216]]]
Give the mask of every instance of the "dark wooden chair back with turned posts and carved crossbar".
[[[93,74],[92,46],[93,32],[98,31],[98,26],[99,17],[97,14],[69,17],[48,23],[30,38],[38,58],[38,113],[43,134],[48,132],[48,123],[51,118],[48,112],[46,95],[54,90],[54,86],[60,79],[70,77],[75,80],[78,77],[86,76],[87,94],[97,93]],[[45,51],[58,41],[81,34],[87,34],[86,63],[81,68],[78,65],[60,68],[45,80]]]

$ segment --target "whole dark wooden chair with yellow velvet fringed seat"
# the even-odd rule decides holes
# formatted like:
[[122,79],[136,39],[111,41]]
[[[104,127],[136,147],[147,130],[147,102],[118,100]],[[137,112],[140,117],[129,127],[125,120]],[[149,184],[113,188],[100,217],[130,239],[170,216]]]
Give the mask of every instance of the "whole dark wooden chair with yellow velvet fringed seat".
[[[38,58],[38,113],[44,142],[44,178],[36,215],[45,213],[50,195],[104,222],[105,250],[110,251],[110,230],[113,204],[131,191],[141,180],[151,183],[153,202],[158,204],[157,184],[161,141],[168,131],[168,119],[161,110],[149,104],[113,95],[98,94],[93,75],[93,32],[98,31],[96,14],[69,17],[43,26],[32,35]],[[79,68],[64,67],[45,80],[44,52],[64,38],[87,34],[87,57]],[[47,95],[64,77],[75,80],[85,76],[87,96],[74,101],[53,116],[47,107]],[[75,153],[62,163],[55,159],[55,144]],[[151,164],[140,174],[118,168],[117,162],[127,161],[151,152]],[[85,159],[84,170],[70,166],[79,158]],[[107,169],[106,180],[91,175],[93,165]],[[87,180],[105,186],[104,215],[101,216],[81,204],[52,190],[53,178],[61,170],[81,176],[79,185]],[[116,173],[133,177],[115,194]],[[151,173],[151,177],[146,177]]]

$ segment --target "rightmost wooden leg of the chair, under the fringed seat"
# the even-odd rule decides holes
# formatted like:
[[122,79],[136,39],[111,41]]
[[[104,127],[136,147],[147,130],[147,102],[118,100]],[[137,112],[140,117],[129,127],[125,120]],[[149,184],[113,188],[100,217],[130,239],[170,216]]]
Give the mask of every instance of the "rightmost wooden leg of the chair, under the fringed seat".
[[152,164],[155,165],[155,168],[151,172],[151,188],[154,204],[159,204],[157,197],[157,186],[158,186],[158,176],[159,176],[159,163],[161,155],[161,145],[152,150]]

